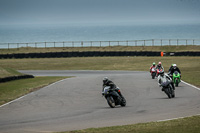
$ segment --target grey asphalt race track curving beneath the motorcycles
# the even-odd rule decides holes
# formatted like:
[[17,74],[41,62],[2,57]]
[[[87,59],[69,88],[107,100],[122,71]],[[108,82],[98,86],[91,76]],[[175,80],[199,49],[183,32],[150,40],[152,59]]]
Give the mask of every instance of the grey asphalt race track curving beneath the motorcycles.
[[[184,83],[168,99],[148,72],[21,71],[35,76],[76,76],[30,93],[0,107],[1,133],[34,133],[126,125],[199,114],[200,91]],[[101,96],[109,77],[127,100],[110,108]]]

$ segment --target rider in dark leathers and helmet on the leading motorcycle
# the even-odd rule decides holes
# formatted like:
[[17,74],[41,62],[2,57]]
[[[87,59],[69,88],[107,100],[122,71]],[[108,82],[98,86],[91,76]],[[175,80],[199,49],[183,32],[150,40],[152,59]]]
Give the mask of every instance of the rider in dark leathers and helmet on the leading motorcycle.
[[117,86],[116,86],[111,80],[109,80],[108,77],[104,77],[104,78],[103,78],[102,95],[103,95],[103,91],[104,91],[104,87],[105,87],[105,86],[110,86],[110,89],[111,89],[111,90],[116,91],[116,92],[119,94],[119,96],[120,96],[121,98],[124,98],[124,97],[122,96],[122,94],[121,94],[120,89],[117,88]]

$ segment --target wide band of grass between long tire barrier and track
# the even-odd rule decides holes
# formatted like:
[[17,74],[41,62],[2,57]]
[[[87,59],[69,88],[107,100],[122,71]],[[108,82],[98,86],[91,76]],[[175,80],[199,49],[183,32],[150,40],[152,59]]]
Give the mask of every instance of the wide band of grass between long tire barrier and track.
[[15,70],[131,70],[149,71],[152,62],[162,62],[165,72],[176,63],[182,79],[200,87],[200,57],[83,57],[1,59],[0,67]]

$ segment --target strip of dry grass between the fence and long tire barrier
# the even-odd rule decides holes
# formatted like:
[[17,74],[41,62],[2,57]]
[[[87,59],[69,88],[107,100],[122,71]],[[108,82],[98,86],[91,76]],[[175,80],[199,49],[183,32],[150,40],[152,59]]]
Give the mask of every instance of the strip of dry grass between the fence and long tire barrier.
[[45,52],[69,52],[69,51],[200,51],[199,45],[188,46],[110,46],[110,47],[64,47],[64,48],[13,48],[0,49],[1,54],[12,53],[45,53]]

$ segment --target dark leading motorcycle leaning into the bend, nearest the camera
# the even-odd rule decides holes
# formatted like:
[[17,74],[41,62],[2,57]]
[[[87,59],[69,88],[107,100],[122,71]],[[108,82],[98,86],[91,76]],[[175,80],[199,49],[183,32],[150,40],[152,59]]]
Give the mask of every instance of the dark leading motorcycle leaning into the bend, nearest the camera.
[[110,86],[105,86],[102,94],[111,108],[115,108],[117,105],[126,106],[126,99],[121,97],[115,90],[110,89]]

